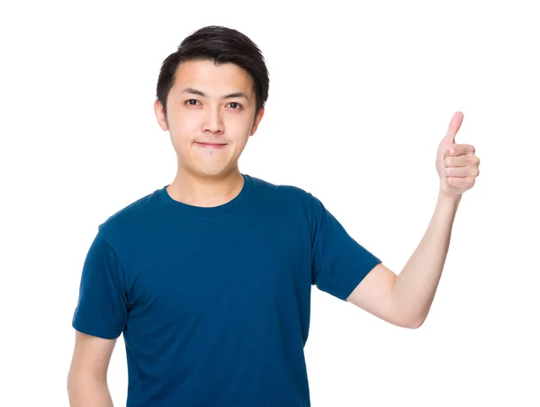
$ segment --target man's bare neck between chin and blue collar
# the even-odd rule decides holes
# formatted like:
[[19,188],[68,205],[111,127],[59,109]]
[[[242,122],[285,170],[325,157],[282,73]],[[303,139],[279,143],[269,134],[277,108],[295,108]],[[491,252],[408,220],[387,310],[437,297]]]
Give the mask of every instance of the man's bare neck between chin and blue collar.
[[178,168],[175,180],[166,187],[175,201],[193,206],[213,207],[234,199],[244,185],[238,167],[222,176],[198,176]]

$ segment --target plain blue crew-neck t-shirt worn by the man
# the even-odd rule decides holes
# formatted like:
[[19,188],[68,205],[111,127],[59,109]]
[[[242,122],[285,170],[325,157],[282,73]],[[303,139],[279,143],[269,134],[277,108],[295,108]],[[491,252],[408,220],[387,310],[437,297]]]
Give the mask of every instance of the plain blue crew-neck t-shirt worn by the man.
[[343,301],[381,262],[312,194],[244,175],[229,203],[166,186],[114,213],[73,327],[124,336],[130,407],[307,407],[311,285]]

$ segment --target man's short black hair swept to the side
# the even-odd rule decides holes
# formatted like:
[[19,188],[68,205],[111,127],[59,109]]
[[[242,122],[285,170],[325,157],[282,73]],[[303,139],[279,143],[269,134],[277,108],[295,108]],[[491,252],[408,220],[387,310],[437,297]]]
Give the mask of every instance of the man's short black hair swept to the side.
[[209,25],[191,33],[166,57],[157,79],[157,100],[166,114],[166,96],[175,83],[176,69],[188,60],[211,60],[214,64],[231,62],[247,70],[253,79],[256,95],[255,115],[268,99],[270,79],[265,58],[257,45],[245,34],[220,25]]

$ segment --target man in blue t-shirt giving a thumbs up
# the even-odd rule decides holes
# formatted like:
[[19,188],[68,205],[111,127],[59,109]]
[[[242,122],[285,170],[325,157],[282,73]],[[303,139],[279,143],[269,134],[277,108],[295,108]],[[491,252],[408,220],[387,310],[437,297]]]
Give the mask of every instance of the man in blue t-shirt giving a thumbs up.
[[401,327],[426,319],[478,176],[473,146],[454,142],[463,114],[437,151],[432,222],[396,276],[315,196],[239,171],[268,86],[257,46],[225,27],[194,32],[165,59],[155,112],[177,173],[99,226],[73,317],[71,405],[112,405],[106,373],[123,333],[128,406],[309,406],[311,285]]

